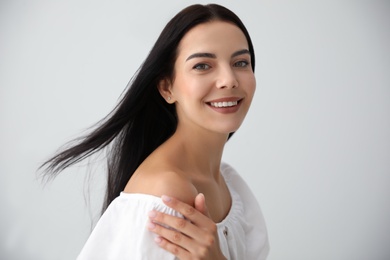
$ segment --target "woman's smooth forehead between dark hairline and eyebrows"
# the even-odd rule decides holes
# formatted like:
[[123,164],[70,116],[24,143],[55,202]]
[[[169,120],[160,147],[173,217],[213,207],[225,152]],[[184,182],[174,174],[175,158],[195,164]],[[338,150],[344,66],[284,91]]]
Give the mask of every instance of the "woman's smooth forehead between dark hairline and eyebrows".
[[181,39],[178,59],[195,52],[226,54],[248,49],[244,33],[236,25],[223,21],[202,23],[189,30]]

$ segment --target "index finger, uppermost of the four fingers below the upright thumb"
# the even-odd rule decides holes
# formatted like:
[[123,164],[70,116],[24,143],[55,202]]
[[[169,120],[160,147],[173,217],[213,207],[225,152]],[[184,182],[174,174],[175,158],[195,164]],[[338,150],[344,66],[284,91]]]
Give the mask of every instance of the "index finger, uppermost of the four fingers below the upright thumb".
[[180,200],[165,195],[161,196],[161,198],[162,201],[167,206],[176,210],[177,212],[180,212],[186,219],[189,219],[197,226],[202,227],[205,223],[208,223],[206,227],[210,228],[213,224],[215,224],[214,222],[210,221],[210,218],[203,215],[203,213],[197,211],[195,208],[191,207],[190,205],[181,202]]

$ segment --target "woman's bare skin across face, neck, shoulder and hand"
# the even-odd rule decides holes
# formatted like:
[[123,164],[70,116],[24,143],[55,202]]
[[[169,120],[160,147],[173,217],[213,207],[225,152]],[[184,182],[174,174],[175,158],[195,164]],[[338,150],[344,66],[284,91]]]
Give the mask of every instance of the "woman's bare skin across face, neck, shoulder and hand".
[[[221,21],[187,32],[179,43],[174,80],[159,84],[161,95],[176,106],[178,126],[139,166],[124,192],[162,196],[167,206],[184,215],[185,219],[149,214],[148,228],[158,235],[156,243],[179,259],[226,259],[215,224],[227,216],[232,203],[220,173],[221,158],[229,133],[248,112],[255,88],[244,34]],[[223,101],[238,103],[215,107]]]

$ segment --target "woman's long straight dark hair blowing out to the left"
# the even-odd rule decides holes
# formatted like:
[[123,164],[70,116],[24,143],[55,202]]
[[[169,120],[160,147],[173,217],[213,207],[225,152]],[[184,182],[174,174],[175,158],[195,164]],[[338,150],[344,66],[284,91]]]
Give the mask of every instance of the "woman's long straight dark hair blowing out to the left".
[[174,79],[177,47],[196,25],[214,21],[235,24],[244,33],[251,54],[250,36],[241,20],[229,9],[216,5],[192,5],[172,18],[161,32],[148,57],[128,84],[128,90],[115,109],[96,129],[46,161],[46,175],[56,176],[65,168],[107,147],[108,177],[103,211],[125,188],[138,166],[176,130],[174,104],[168,104],[158,91],[161,80]]

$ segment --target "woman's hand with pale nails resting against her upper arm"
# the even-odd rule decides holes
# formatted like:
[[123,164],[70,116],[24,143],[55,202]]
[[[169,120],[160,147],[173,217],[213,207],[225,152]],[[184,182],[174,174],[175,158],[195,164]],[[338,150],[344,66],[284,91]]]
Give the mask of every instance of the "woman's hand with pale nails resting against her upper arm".
[[[177,199],[161,197],[170,208],[180,212],[185,219],[151,211],[150,231],[159,235],[156,243],[179,259],[226,259],[220,248],[217,225],[211,220],[202,193],[195,197],[195,208]],[[172,229],[162,225],[169,226]]]

